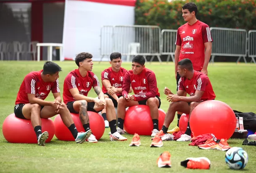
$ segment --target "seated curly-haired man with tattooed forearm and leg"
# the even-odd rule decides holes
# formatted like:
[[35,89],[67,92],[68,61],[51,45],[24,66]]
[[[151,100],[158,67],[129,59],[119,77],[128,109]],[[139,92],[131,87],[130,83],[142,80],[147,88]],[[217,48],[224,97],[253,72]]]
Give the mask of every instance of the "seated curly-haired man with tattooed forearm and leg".
[[[116,131],[116,111],[111,99],[104,98],[97,76],[92,72],[92,54],[79,53],[75,59],[78,69],[71,71],[64,80],[63,100],[71,113],[79,113],[84,130],[90,130],[87,111],[100,112],[106,108],[106,114],[111,130],[111,140],[127,140]],[[87,97],[93,87],[98,95],[96,98]],[[88,142],[98,142],[93,134]]]

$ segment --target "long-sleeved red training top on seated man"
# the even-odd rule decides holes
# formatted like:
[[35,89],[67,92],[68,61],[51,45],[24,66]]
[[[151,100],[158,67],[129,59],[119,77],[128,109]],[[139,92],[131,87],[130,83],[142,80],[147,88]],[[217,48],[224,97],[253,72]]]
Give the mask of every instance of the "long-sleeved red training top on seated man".
[[122,95],[127,97],[130,86],[134,92],[135,101],[147,100],[150,97],[160,97],[157,88],[156,75],[148,68],[144,68],[140,74],[134,74],[132,70],[124,75]]

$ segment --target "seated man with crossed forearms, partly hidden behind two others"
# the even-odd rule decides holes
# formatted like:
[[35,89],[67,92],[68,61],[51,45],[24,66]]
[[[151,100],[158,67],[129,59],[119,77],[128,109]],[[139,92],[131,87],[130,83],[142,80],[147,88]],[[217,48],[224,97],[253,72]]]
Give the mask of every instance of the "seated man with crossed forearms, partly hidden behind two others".
[[[124,74],[127,72],[126,69],[121,67],[121,57],[119,52],[111,53],[109,62],[111,67],[101,73],[102,92],[105,94],[105,98],[110,98],[113,101],[114,107],[117,107],[118,99],[122,96]],[[131,88],[129,92],[132,92]],[[105,121],[105,127],[108,128],[106,109],[103,109],[101,113]]]

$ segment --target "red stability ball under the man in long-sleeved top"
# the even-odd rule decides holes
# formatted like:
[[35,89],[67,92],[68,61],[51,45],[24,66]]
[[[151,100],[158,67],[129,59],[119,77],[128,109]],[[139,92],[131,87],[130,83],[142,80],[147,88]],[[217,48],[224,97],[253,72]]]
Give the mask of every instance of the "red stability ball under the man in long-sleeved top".
[[[158,128],[164,124],[165,113],[158,109]],[[124,130],[128,134],[151,135],[153,121],[150,116],[150,109],[146,105],[136,105],[129,107],[124,117]]]

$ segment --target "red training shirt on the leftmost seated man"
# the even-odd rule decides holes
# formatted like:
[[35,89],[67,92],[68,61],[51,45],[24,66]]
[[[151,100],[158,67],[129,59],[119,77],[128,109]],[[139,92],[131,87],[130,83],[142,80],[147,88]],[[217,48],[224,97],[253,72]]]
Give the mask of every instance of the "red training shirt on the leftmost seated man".
[[41,73],[42,70],[32,71],[25,76],[18,90],[15,104],[29,103],[28,94],[35,94],[35,97],[45,100],[50,91],[61,92],[58,79],[55,82],[45,82],[42,80]]

